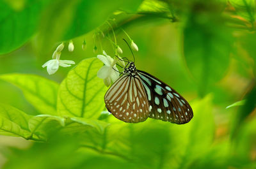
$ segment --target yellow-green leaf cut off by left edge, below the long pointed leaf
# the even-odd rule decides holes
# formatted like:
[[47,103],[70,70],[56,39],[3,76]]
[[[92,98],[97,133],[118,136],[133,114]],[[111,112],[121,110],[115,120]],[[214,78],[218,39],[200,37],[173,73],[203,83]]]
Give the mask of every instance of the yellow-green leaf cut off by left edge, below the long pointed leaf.
[[0,135],[28,138],[31,135],[28,127],[30,118],[17,108],[0,104]]

